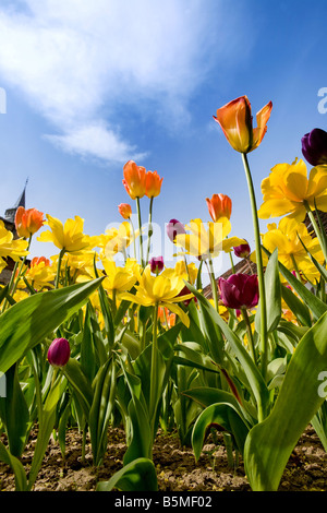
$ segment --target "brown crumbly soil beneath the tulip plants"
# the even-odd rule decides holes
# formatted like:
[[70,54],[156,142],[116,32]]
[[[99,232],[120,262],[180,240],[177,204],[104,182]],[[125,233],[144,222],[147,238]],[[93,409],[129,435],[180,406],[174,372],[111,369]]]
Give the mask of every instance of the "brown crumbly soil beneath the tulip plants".
[[[1,437],[2,441],[5,438]],[[35,439],[31,438],[22,457],[26,470],[31,464]],[[63,463],[58,442],[50,440],[35,491],[94,491],[97,480],[108,480],[122,467],[126,450],[122,429],[111,429],[104,464],[92,464],[89,443],[82,462],[82,436],[75,430],[66,433],[66,455]],[[208,439],[198,463],[191,448],[181,448],[177,434],[159,433],[154,446],[159,491],[251,491],[242,460],[237,468],[228,466],[223,440]],[[14,475],[0,462],[0,490],[14,491]],[[327,491],[327,454],[313,428],[308,427],[294,449],[280,491]]]

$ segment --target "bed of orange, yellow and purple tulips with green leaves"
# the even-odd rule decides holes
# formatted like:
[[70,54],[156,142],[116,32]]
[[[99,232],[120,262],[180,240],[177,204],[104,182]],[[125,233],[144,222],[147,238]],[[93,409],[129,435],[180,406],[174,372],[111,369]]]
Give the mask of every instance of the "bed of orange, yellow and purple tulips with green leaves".
[[[124,220],[117,228],[90,237],[78,216],[62,223],[23,207],[16,213],[19,239],[0,223],[0,264],[15,262],[0,294],[0,461],[11,467],[15,490],[37,489],[52,455],[56,489],[65,489],[66,437],[77,440],[93,490],[158,491],[166,480],[180,487],[185,462],[189,477],[199,474],[197,485],[184,479],[187,490],[206,486],[206,479],[210,490],[226,489],[220,470],[227,463],[241,473],[229,473],[231,488],[293,489],[300,465],[303,489],[325,489],[324,478],[312,478],[319,474],[316,463],[305,463],[298,446],[310,433],[311,445],[320,444],[318,466],[325,468],[327,237],[319,212],[327,212],[327,165],[324,148],[316,151],[325,140],[318,133],[317,142],[317,132],[303,138],[304,156],[314,163],[308,177],[302,159],[271,169],[257,208],[249,154],[262,144],[271,108],[269,103],[257,114],[257,128],[246,97],[215,117],[242,157],[254,251],[231,235],[232,201],[219,193],[206,199],[211,220],[168,223],[177,252],[172,266],[152,255],[162,178],[131,160],[123,186],[136,214],[119,205]],[[148,201],[146,226],[141,201]],[[283,217],[261,234],[259,218],[274,215]],[[44,227],[38,240],[52,242],[58,252],[27,265],[32,238]],[[256,274],[217,279],[214,259],[221,251],[232,265],[233,255],[255,262]],[[203,294],[205,271],[211,299]],[[220,444],[216,458],[213,446],[208,455],[208,434]],[[168,474],[158,461],[167,440],[175,456]],[[110,448],[119,457],[107,474]],[[216,468],[209,474],[208,457]]]

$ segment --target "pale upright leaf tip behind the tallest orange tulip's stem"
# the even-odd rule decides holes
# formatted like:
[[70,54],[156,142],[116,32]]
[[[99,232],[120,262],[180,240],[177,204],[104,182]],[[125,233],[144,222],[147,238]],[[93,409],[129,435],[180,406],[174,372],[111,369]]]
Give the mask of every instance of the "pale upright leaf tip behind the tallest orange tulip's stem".
[[[278,326],[279,320],[281,318],[281,291],[277,249],[269,258],[265,271],[265,293],[267,311],[267,332],[271,333]],[[259,303],[255,314],[255,329],[257,333],[261,332]]]

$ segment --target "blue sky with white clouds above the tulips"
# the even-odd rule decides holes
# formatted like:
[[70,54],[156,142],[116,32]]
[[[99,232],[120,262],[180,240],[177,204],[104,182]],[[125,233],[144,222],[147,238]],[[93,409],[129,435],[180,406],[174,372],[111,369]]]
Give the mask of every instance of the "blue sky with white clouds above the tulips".
[[[259,206],[270,168],[302,157],[304,133],[327,129],[326,14],[326,0],[2,0],[1,215],[28,177],[27,207],[80,215],[86,234],[101,234],[131,202],[122,169],[134,159],[164,177],[162,234],[173,217],[209,220],[205,199],[225,193],[231,235],[254,247],[241,156],[213,115],[244,94],[254,117],[272,100],[250,155]],[[142,208],[146,222],[146,200]],[[56,250],[34,241],[40,252]],[[217,273],[229,264],[218,258]]]

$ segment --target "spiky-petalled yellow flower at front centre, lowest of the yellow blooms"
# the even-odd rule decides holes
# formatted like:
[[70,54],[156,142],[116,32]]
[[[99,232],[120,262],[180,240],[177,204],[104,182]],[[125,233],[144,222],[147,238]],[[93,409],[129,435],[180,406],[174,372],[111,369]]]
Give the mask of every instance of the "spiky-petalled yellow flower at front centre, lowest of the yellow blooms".
[[140,283],[135,285],[136,294],[124,294],[121,298],[144,307],[166,307],[172,313],[179,315],[183,324],[189,326],[190,319],[187,314],[175,303],[185,301],[192,298],[193,295],[179,296],[185,286],[184,281],[175,273],[171,275],[165,273],[165,271],[158,276],[154,276],[150,266],[147,265],[140,277]]

